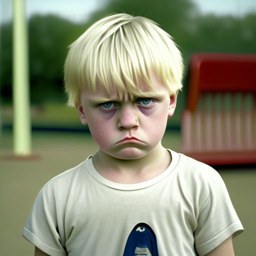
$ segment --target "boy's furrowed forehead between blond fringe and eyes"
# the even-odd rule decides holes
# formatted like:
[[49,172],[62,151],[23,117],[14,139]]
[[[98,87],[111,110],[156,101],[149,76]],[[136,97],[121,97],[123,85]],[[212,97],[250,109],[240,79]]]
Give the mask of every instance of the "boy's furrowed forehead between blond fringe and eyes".
[[128,101],[133,98],[153,98],[163,94],[169,95],[169,91],[163,82],[157,77],[156,73],[153,72],[151,75],[151,86],[145,83],[145,81],[138,77],[138,89],[136,93],[129,92],[128,90],[120,90],[113,83],[109,83],[109,90],[101,83],[97,78],[96,80],[96,91],[92,91],[88,87],[81,88],[81,100],[90,101]]

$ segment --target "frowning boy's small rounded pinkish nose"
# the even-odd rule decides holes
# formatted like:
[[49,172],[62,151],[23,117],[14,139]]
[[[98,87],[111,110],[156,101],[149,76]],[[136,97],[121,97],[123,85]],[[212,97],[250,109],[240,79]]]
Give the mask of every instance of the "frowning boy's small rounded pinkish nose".
[[136,108],[131,105],[122,106],[122,108],[119,110],[118,128],[120,130],[139,128]]

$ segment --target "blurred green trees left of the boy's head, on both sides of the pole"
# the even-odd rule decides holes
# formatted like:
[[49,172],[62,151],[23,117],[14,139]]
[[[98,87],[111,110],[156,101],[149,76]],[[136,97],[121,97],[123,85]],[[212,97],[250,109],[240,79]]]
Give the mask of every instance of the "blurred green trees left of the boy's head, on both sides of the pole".
[[[33,16],[28,23],[32,103],[66,102],[63,65],[68,46],[87,28],[55,15]],[[12,100],[12,23],[1,28],[0,88],[3,103]]]

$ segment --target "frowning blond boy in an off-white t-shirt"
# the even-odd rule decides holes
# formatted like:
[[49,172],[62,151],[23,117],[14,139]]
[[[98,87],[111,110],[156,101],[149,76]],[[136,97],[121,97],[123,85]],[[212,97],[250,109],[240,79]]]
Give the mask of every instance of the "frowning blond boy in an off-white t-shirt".
[[23,230],[35,255],[234,255],[243,227],[219,174],[161,145],[182,72],[143,17],[106,17],[71,45],[68,104],[99,150],[39,192]]

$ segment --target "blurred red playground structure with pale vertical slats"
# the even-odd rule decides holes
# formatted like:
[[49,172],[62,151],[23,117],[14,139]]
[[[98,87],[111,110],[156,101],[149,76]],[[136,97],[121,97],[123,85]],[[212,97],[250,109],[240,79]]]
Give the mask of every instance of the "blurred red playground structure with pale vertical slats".
[[180,152],[209,165],[256,163],[256,55],[193,54]]

